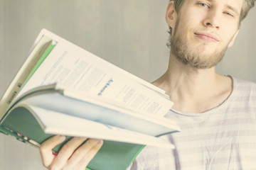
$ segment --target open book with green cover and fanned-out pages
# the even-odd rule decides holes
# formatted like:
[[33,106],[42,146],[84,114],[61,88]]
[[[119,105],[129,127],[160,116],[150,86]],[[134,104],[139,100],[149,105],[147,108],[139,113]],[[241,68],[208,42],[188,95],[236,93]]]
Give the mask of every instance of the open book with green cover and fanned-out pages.
[[144,145],[174,148],[159,138],[180,130],[164,118],[172,105],[163,90],[43,29],[1,98],[0,131],[36,147],[53,135],[102,139],[88,169],[126,169]]

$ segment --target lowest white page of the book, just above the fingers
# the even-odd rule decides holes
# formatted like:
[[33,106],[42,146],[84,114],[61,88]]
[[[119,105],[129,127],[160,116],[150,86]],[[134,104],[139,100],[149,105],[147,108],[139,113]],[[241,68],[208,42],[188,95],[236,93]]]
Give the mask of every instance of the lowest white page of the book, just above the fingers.
[[139,145],[151,145],[154,147],[174,148],[169,142],[132,132],[121,128],[116,128],[102,123],[95,123],[90,120],[82,120],[70,115],[48,111],[43,108],[30,106],[31,110],[41,120],[45,127],[45,132],[53,135],[68,135],[77,137],[88,137],[102,140],[112,140],[117,142],[129,142]]

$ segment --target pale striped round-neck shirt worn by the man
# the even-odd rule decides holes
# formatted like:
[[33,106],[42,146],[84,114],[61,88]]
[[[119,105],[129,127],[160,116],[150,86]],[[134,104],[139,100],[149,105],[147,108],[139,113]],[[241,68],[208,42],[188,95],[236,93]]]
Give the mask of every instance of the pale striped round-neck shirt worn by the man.
[[220,106],[166,117],[181,126],[161,137],[176,149],[145,147],[131,169],[256,169],[256,84],[233,78],[233,92]]

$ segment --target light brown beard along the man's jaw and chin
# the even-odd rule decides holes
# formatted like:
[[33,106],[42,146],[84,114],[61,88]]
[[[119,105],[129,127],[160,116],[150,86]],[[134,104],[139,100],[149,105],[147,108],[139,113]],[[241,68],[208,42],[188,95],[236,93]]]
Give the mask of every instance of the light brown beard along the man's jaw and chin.
[[[179,20],[178,20],[179,21]],[[196,69],[210,69],[215,67],[224,57],[228,45],[222,50],[213,52],[208,56],[203,55],[204,47],[198,49],[188,42],[181,34],[178,34],[178,22],[174,30],[174,35],[171,38],[171,53],[176,56],[176,59],[190,67]]]

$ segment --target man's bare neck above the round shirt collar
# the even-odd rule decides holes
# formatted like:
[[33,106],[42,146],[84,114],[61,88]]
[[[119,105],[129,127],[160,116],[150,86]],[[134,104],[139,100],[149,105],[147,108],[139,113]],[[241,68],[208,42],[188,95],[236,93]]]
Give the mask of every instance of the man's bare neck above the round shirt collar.
[[215,73],[215,68],[195,69],[171,61],[166,73],[153,82],[174,101],[174,109],[203,113],[220,105],[231,94],[230,77]]

